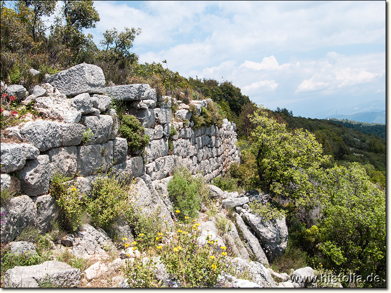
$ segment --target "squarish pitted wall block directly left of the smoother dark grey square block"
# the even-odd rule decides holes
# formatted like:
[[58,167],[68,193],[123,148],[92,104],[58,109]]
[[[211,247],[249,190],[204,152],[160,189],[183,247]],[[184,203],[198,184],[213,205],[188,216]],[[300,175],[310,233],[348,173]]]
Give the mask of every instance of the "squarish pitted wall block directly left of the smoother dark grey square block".
[[50,179],[56,172],[71,178],[77,173],[76,146],[51,148],[45,154],[49,156],[50,160]]

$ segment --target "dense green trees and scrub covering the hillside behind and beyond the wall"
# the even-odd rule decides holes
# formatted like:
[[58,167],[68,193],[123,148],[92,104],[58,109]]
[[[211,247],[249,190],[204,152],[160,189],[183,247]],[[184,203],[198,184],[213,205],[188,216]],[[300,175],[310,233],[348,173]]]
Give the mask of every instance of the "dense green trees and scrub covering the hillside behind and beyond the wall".
[[[54,14],[56,2],[13,1],[8,8],[1,1],[2,82],[30,90],[45,74],[91,63],[107,85],[146,83],[184,103],[212,99],[218,114],[237,124],[242,156],[214,184],[271,195],[270,213],[283,212],[290,232],[280,268],[300,259],[325,272],[375,273],[381,284],[365,286],[385,286],[385,126],[295,117],[255,105],[232,82],[182,77],[165,60],[139,63],[131,48],[142,29],[108,29],[96,44],[83,33],[99,21],[93,1],[62,1],[62,16],[47,27],[42,17]],[[3,109],[23,111],[11,102],[1,98],[1,121]]]

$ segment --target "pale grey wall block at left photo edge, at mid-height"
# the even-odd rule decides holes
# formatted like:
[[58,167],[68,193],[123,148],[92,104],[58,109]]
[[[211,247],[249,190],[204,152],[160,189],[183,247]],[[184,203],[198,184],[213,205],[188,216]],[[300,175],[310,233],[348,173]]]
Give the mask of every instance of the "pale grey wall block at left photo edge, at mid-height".
[[26,155],[21,144],[0,144],[1,172],[11,173],[22,169],[26,163]]

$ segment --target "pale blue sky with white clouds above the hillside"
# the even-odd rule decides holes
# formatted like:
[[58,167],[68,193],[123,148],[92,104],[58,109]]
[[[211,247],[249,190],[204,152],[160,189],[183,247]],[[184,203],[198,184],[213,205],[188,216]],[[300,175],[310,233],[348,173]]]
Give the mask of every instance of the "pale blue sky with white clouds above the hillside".
[[[133,52],[231,81],[268,108],[323,118],[386,102],[386,1],[94,1],[87,30],[140,27]],[[349,114],[349,113],[345,113]]]

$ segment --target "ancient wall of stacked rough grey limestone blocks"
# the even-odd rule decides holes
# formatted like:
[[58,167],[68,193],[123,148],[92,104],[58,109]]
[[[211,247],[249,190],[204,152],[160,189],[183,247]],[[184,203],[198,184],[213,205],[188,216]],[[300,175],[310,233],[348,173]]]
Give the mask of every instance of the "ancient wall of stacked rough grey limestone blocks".
[[[89,64],[76,65],[48,81],[50,84],[36,86],[34,92],[39,94],[20,98],[22,104],[35,100],[34,109],[45,119],[9,127],[1,138],[1,190],[21,189],[29,197],[23,198],[23,205],[37,210],[35,220],[26,221],[35,221],[43,232],[58,217],[55,201],[47,198],[57,171],[74,177],[71,183],[89,193],[94,180],[106,176],[110,169],[117,175],[142,177],[147,184],[155,181],[156,185],[156,181],[171,176],[175,166],[187,166],[194,174],[202,172],[210,181],[223,175],[231,162],[239,162],[235,124],[224,120],[221,127],[194,129],[188,105],[168,96],[158,99],[148,84],[105,88],[101,68]],[[124,101],[146,128],[151,140],[142,156],[130,157],[126,139],[117,137],[119,122],[110,108],[113,99]],[[172,103],[178,104],[174,115]],[[192,103],[200,112],[201,106],[212,101]],[[170,136],[171,128],[176,135]],[[6,139],[12,142],[3,142]],[[40,206],[45,208],[38,209],[37,203],[43,201]],[[11,218],[7,216],[1,222],[1,242],[11,240],[5,236],[16,225]]]

